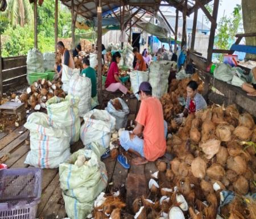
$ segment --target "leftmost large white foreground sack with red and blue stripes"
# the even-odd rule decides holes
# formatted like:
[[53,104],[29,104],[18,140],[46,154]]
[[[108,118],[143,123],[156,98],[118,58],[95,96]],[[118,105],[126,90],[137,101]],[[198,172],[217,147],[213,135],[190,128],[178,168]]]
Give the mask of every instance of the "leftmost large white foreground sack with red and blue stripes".
[[24,163],[42,169],[53,169],[59,167],[59,164],[71,155],[71,137],[61,127],[52,128],[46,113],[32,113],[24,127],[30,130],[31,149]]

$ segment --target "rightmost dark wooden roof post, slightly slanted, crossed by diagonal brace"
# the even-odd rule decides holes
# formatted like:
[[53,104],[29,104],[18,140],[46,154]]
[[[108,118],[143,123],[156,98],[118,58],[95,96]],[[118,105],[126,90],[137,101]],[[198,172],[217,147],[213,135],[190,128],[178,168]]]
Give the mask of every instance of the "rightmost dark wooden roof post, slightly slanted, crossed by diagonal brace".
[[[218,15],[218,3],[220,0],[214,0],[213,4],[213,14],[212,18],[216,22],[217,15]],[[209,65],[210,62],[212,62],[212,50],[213,50],[213,44],[214,44],[214,36],[215,36],[215,30],[216,30],[216,24],[212,23],[210,26],[210,37],[209,37],[209,45],[208,45],[208,54],[207,54],[207,64]]]

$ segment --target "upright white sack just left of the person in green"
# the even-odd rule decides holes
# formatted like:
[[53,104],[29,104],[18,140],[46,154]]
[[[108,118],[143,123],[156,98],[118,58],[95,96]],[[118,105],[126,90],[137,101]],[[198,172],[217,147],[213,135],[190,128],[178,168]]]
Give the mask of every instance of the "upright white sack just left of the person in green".
[[78,74],[74,74],[69,81],[68,94],[77,96],[80,98],[78,108],[79,116],[83,117],[86,112],[92,110],[91,108],[91,92],[92,83],[90,78],[82,77]]

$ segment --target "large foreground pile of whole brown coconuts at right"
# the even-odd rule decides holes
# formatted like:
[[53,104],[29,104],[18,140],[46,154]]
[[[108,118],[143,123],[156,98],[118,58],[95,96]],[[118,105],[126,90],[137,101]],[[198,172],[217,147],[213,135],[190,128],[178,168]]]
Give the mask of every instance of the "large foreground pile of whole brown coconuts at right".
[[234,105],[225,109],[214,105],[189,115],[168,139],[167,151],[176,158],[169,166],[164,162],[157,165],[170,187],[163,192],[156,183],[153,188],[163,196],[170,192],[168,207],[182,199],[178,207],[185,217],[215,219],[219,210],[223,218],[255,218],[242,197],[218,209],[224,201],[222,191],[237,196],[256,192],[256,125],[249,113],[240,114]]

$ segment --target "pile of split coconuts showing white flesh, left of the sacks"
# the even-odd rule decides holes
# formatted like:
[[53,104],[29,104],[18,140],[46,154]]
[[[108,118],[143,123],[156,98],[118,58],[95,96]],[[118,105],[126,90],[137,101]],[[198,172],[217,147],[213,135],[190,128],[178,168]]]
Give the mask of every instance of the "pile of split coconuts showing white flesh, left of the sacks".
[[20,96],[12,94],[11,98],[14,101],[23,102],[25,107],[31,107],[33,110],[40,110],[46,108],[46,102],[53,96],[65,98],[65,92],[61,89],[62,82],[60,79],[57,81],[47,81],[46,79],[39,79],[27,88]]

